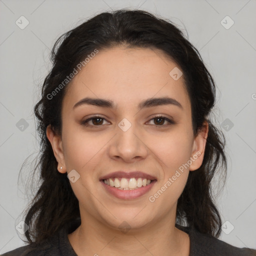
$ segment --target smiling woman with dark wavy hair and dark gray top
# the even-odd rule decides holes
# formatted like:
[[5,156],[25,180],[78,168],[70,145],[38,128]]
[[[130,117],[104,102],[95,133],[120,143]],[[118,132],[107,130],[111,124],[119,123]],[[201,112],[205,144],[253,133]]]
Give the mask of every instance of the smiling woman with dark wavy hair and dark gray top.
[[256,255],[217,239],[214,81],[170,21],[100,13],[61,36],[35,105],[41,185],[7,255]]

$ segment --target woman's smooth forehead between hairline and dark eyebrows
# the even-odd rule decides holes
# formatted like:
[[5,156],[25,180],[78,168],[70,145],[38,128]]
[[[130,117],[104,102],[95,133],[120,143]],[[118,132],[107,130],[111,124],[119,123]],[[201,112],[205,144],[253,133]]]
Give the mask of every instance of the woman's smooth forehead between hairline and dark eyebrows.
[[169,74],[173,68],[179,67],[158,49],[99,50],[68,84],[65,105],[72,107],[86,96],[111,99],[117,106],[154,96],[171,96],[182,105],[189,104],[183,76],[174,80]]

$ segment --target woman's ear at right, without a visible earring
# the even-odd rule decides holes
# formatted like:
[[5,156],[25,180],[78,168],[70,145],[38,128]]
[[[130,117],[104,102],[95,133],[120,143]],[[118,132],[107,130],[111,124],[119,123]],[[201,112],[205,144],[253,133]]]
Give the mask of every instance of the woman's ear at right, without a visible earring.
[[198,135],[194,138],[192,154],[190,157],[192,163],[190,164],[189,170],[196,170],[202,164],[204,149],[206,145],[206,138],[208,136],[208,128],[208,122],[204,121],[201,130],[199,131]]

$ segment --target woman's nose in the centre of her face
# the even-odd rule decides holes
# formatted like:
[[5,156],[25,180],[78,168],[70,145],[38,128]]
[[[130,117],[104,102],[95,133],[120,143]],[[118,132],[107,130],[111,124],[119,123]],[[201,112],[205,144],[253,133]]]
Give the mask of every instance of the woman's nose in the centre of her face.
[[148,148],[142,129],[124,119],[124,122],[116,126],[116,135],[111,140],[108,153],[109,157],[125,162],[144,159],[148,154]]

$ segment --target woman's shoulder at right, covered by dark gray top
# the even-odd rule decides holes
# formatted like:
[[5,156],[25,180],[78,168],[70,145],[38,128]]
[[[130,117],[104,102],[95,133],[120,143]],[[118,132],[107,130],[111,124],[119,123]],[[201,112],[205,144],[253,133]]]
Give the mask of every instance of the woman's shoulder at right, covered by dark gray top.
[[181,227],[190,237],[189,256],[256,256],[255,249],[239,248],[195,228]]

